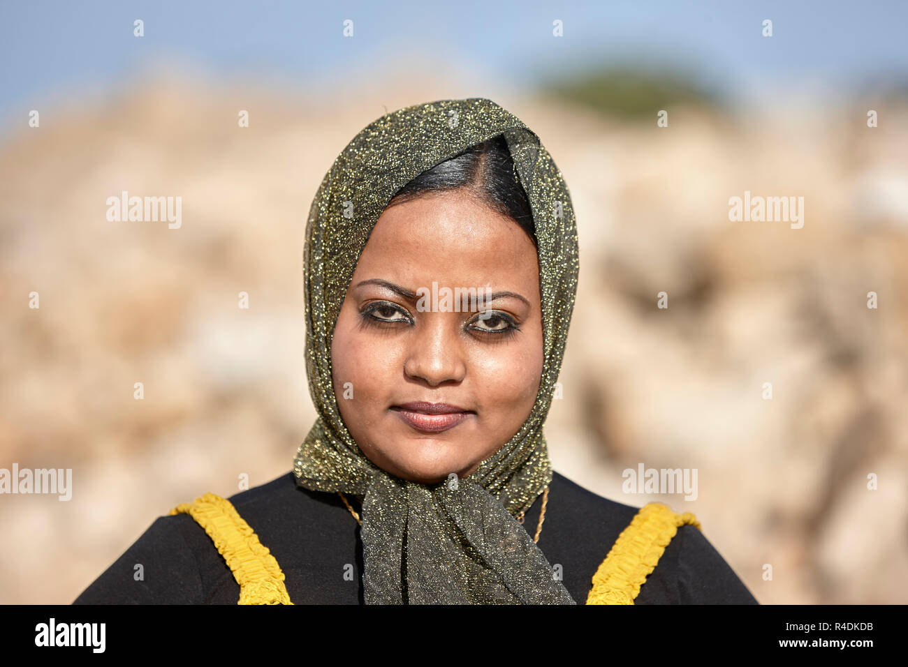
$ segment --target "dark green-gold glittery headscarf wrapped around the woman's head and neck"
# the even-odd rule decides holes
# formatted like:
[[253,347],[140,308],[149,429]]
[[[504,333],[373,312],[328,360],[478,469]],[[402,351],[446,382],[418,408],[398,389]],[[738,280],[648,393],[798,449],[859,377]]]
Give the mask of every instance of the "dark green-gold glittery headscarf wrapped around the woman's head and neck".
[[[542,378],[527,420],[475,473],[422,485],[372,464],[350,436],[331,381],[331,336],[360,252],[395,192],[498,134],[508,142],[536,227]],[[357,134],[321,182],[303,263],[306,371],[319,417],[293,471],[305,488],[362,498],[365,602],[575,603],[514,518],[551,482],[542,426],[577,290],[568,187],[537,135],[482,98],[418,104],[382,116]]]

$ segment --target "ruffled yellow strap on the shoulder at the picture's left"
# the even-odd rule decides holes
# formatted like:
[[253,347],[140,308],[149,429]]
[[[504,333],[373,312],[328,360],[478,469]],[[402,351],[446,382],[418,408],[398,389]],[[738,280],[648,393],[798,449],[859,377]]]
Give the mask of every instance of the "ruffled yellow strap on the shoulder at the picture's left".
[[170,514],[192,516],[212,538],[240,584],[238,604],[292,604],[277,560],[230,501],[205,494],[192,503],[177,505]]

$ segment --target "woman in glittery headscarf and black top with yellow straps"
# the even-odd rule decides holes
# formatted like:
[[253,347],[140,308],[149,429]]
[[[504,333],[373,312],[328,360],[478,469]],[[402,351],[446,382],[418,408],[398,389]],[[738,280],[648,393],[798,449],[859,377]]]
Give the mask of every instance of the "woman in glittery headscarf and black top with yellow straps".
[[518,118],[468,99],[370,123],[304,265],[319,417],[293,472],[174,508],[76,603],[756,602],[693,515],[551,469],[577,232]]

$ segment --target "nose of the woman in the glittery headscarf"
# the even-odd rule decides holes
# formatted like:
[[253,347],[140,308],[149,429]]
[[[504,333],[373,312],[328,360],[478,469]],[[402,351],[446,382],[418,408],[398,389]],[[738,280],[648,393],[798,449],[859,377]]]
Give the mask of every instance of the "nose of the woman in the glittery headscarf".
[[432,313],[431,317],[419,321],[413,333],[403,364],[408,378],[438,387],[446,382],[461,382],[466,377],[465,350],[455,320]]

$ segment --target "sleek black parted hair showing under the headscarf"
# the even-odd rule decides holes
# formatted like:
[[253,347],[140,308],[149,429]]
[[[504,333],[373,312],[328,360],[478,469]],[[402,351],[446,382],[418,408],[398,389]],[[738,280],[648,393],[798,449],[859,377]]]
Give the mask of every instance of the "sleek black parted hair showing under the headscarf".
[[[526,231],[537,245],[536,226],[527,192],[518,181],[514,160],[503,134],[470,146],[400,188],[388,206],[416,199],[423,194],[463,190],[493,211],[507,215]],[[387,208],[387,207],[386,207]]]

